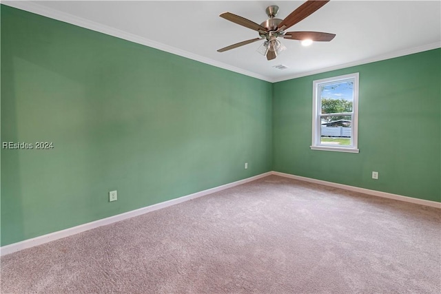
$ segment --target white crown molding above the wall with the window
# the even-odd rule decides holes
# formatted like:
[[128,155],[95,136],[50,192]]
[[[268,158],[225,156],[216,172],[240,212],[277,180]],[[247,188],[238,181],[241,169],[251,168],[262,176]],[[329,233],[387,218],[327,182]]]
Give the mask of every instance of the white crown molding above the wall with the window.
[[341,70],[342,68],[347,68],[347,67],[352,67],[352,66],[356,66],[356,65],[363,65],[363,64],[367,64],[367,63],[373,63],[376,61],[382,61],[382,60],[386,60],[386,59],[393,59],[396,57],[400,57],[400,56],[405,56],[405,55],[409,55],[409,54],[414,54],[414,53],[418,53],[418,52],[423,52],[423,51],[427,51],[427,50],[433,50],[433,49],[437,49],[437,48],[441,48],[441,42],[435,42],[435,43],[431,43],[431,44],[427,44],[427,45],[422,45],[422,46],[418,46],[418,47],[414,47],[414,48],[409,48],[409,49],[405,49],[405,50],[400,50],[400,51],[395,51],[395,52],[389,52],[386,54],[381,54],[381,55],[377,55],[377,56],[373,56],[369,59],[361,59],[358,61],[353,61],[350,63],[343,63],[340,65],[334,65],[331,67],[325,67],[322,68],[320,70],[313,70],[311,72],[302,72],[300,74],[292,74],[289,76],[283,76],[280,78],[274,78],[271,83],[278,83],[278,82],[282,82],[282,81],[288,81],[291,80],[293,78],[301,78],[302,76],[311,76],[313,74],[321,74],[323,72],[331,72],[332,70]]

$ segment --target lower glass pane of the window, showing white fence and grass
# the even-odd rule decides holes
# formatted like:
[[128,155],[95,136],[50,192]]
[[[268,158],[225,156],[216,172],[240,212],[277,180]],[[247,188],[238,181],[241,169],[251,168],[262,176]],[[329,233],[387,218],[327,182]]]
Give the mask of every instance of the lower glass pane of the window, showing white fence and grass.
[[320,144],[351,146],[352,116],[321,116]]

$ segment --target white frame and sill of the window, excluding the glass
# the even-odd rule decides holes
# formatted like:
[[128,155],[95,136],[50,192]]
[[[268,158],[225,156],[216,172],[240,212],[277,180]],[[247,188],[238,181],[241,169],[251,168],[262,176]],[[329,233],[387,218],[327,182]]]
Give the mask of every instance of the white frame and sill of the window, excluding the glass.
[[[319,87],[324,84],[338,83],[339,81],[345,81],[348,79],[353,79],[353,102],[352,102],[352,112],[348,113],[352,116],[351,122],[351,142],[350,146],[331,146],[327,144],[322,144],[320,140],[321,132],[321,116],[322,109],[320,105],[320,91]],[[322,78],[321,80],[316,80],[313,82],[313,99],[312,99],[312,145],[310,146],[312,150],[325,150],[325,151],[340,151],[340,152],[350,152],[359,153],[358,149],[358,82],[359,73],[345,74],[343,76],[333,76],[331,78]],[[346,114],[346,113],[345,113]]]

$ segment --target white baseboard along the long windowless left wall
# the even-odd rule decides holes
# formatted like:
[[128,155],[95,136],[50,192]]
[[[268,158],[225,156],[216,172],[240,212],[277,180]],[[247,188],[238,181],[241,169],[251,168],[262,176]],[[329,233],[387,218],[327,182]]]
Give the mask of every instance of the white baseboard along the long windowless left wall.
[[54,233],[48,233],[46,235],[41,235],[39,237],[36,238],[32,238],[32,239],[28,239],[28,240],[23,240],[21,242],[17,242],[17,243],[13,243],[13,244],[9,244],[6,246],[2,246],[0,247],[0,256],[3,255],[7,255],[10,253],[14,253],[23,249],[27,249],[33,246],[38,246],[41,244],[45,244],[47,242],[51,242],[54,240],[58,240],[61,238],[65,238],[68,237],[70,235],[75,235],[77,233],[81,233],[83,231],[88,231],[90,229],[95,229],[97,227],[101,227],[101,226],[105,226],[106,224],[112,224],[113,222],[119,222],[120,220],[126,220],[127,218],[133,218],[134,216],[140,216],[141,214],[150,212],[150,211],[155,211],[158,209],[162,209],[165,207],[170,207],[174,204],[178,204],[181,202],[185,202],[188,200],[192,200],[194,198],[198,198],[201,196],[205,196],[217,191],[222,191],[231,187],[235,187],[238,185],[242,185],[245,184],[246,182],[251,182],[253,180],[257,180],[259,178],[264,178],[265,176],[270,176],[271,175],[271,171],[268,171],[265,174],[260,174],[257,176],[252,176],[251,178],[245,178],[243,180],[238,180],[236,182],[230,182],[229,184],[225,184],[225,185],[221,185],[218,187],[214,187],[212,189],[207,189],[207,190],[203,190],[203,191],[199,191],[196,193],[192,193],[189,194],[187,196],[182,196],[180,198],[176,198],[176,199],[172,199],[172,200],[168,200],[165,202],[160,202],[158,204],[153,204],[150,205],[148,207],[143,207],[141,209],[135,209],[132,211],[128,211],[125,213],[121,213],[118,214],[116,216],[110,216],[109,218],[103,218],[101,220],[95,220],[94,222],[88,222],[87,224],[80,224],[79,226],[76,227],[72,227],[69,229],[64,229],[61,231],[56,231]]

